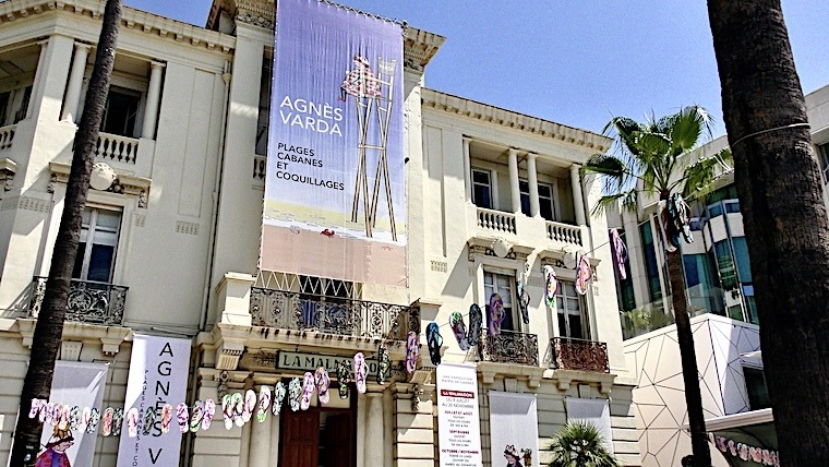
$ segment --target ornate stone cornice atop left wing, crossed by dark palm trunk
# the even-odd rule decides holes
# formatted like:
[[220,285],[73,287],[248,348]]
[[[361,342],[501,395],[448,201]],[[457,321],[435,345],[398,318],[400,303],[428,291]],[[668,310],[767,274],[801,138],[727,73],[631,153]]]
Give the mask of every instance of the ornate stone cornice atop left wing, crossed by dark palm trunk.
[[[71,12],[99,19],[104,14],[103,0],[8,0],[0,3],[0,24],[53,11]],[[123,8],[123,27],[178,43],[229,52],[236,48],[236,38],[169,17]]]

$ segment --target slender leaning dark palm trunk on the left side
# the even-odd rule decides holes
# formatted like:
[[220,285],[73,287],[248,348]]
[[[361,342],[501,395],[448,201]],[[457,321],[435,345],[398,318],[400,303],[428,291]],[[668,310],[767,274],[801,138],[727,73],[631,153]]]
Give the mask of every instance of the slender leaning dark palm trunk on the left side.
[[[51,393],[55,360],[63,335],[69,286],[81,238],[82,216],[86,206],[95,145],[109,92],[120,25],[121,0],[108,0],[84,111],[75,133],[72,169],[67,182],[63,215],[55,241],[49,278],[32,338],[28,369],[23,381],[20,414],[14,430],[14,444],[9,464],[11,466],[34,466],[40,448],[43,427],[37,418],[28,418],[28,412],[33,398],[48,399]],[[48,70],[37,70],[38,74],[46,72]]]

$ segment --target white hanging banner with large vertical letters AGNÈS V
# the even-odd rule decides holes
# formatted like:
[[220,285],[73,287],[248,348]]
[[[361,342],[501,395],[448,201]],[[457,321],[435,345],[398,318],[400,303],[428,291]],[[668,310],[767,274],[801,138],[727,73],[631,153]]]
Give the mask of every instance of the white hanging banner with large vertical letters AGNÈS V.
[[[147,336],[135,334],[130,357],[130,373],[127,380],[124,414],[137,408],[143,424],[147,408],[160,414],[165,404],[176,407],[184,400],[190,374],[190,339]],[[144,434],[130,438],[128,430],[121,431],[118,448],[118,466],[177,466],[181,450],[181,432],[170,430],[161,433],[161,421],[156,422]]]

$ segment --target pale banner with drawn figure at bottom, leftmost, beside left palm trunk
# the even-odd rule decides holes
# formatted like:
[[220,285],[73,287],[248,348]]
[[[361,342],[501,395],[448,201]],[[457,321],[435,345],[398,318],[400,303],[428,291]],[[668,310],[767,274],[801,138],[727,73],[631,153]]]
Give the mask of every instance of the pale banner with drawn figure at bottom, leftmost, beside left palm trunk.
[[[55,404],[79,407],[95,407],[101,410],[104,385],[107,381],[108,363],[81,363],[76,361],[55,362],[51,395]],[[38,459],[51,459],[52,456],[67,456],[72,467],[92,467],[95,456],[95,433],[85,430],[59,430],[51,423],[44,424],[40,435],[44,446]]]

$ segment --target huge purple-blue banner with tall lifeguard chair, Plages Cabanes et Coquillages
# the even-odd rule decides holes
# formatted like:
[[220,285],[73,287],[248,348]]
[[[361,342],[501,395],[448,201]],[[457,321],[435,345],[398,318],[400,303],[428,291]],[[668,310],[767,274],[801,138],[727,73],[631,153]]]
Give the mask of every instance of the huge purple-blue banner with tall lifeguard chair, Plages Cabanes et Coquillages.
[[280,0],[261,268],[406,285],[403,27]]

